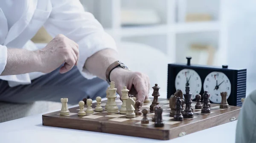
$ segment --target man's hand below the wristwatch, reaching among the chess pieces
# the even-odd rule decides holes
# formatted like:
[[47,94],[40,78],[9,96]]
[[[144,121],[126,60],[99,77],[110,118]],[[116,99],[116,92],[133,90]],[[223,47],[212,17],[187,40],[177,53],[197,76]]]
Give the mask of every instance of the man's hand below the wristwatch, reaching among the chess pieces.
[[150,81],[146,74],[116,68],[112,70],[110,80],[115,82],[116,92],[120,97],[122,97],[121,90],[126,86],[130,90],[129,94],[134,95],[137,101],[143,103],[145,99],[148,99]]

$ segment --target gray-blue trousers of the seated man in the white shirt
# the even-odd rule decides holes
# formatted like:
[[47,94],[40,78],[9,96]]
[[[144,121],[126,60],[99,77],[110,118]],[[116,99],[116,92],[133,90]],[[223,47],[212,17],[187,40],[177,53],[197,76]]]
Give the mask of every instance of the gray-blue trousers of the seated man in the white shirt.
[[34,79],[29,85],[9,87],[7,81],[0,80],[0,101],[30,103],[34,101],[56,101],[68,98],[68,104],[78,104],[83,98],[95,100],[106,97],[108,83],[102,79],[85,79],[77,67],[60,74],[59,69]]

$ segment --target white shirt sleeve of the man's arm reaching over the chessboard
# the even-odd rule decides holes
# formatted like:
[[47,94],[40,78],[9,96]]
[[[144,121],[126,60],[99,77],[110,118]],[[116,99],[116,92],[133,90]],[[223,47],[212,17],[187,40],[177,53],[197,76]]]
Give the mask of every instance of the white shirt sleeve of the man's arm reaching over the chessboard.
[[83,68],[86,59],[105,48],[116,50],[114,39],[93,14],[84,11],[79,0],[52,0],[52,12],[44,27],[52,37],[63,34],[79,44],[77,67],[87,79],[96,76]]

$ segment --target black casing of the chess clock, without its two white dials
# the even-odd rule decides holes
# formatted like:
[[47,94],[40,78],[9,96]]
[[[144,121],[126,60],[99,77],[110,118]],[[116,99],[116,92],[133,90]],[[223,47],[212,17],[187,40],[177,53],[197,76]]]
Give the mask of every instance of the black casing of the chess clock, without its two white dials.
[[[183,69],[192,69],[195,70],[200,78],[202,79],[202,85],[204,84],[204,79],[206,76],[211,72],[222,72],[224,73],[229,79],[231,83],[231,93],[227,102],[229,105],[232,106],[241,106],[241,98],[245,98],[246,96],[246,76],[247,70],[246,69],[235,69],[229,68],[227,65],[222,65],[222,67],[215,67],[209,65],[198,65],[198,64],[190,64],[190,59],[187,58],[187,64],[182,63],[174,63],[168,64],[168,79],[167,79],[167,98],[170,98],[172,94],[176,92],[175,89],[175,77],[180,70]],[[180,89],[182,92],[185,89]],[[222,91],[224,92],[224,91]],[[200,95],[204,94],[204,87],[201,87]],[[211,93],[210,93],[211,94]],[[202,99],[201,99],[202,100]]]

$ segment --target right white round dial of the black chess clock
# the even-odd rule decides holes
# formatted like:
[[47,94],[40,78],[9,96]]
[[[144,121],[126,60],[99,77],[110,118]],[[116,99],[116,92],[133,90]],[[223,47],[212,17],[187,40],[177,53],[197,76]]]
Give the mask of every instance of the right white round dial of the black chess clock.
[[221,92],[227,92],[227,98],[231,93],[231,83],[228,77],[221,72],[209,73],[204,80],[204,91],[210,94],[209,100],[213,103],[221,103]]

